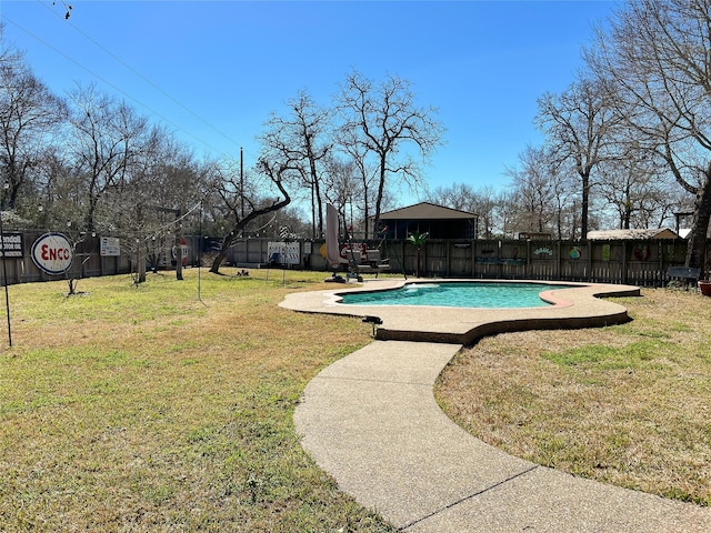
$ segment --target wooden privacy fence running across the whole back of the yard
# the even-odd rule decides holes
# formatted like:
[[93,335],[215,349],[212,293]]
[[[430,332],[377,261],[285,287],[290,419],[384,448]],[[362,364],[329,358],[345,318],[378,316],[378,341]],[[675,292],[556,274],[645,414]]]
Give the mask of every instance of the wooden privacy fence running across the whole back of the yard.
[[[63,278],[90,278],[136,271],[137,257],[119,247],[119,254],[102,253],[100,237],[83,238],[76,245],[74,260],[67,274],[49,275],[38,269],[31,258],[33,242],[41,232],[3,233],[17,250],[7,250],[0,269],[2,283],[29,283]],[[106,243],[106,242],[104,242]],[[217,240],[186,237],[186,266],[200,262],[209,266]],[[390,262],[391,272],[413,275],[418,251],[405,240],[358,241],[358,251],[379,249]],[[174,268],[171,241],[152,247],[160,269]],[[106,247],[104,247],[106,248]],[[341,244],[342,254],[349,257]],[[707,261],[709,264],[709,247]],[[113,251],[116,252],[116,250]],[[110,253],[113,253],[110,252]],[[523,241],[523,240],[444,240],[428,239],[420,253],[420,273],[430,278],[531,279],[600,283],[624,283],[641,286],[664,286],[671,266],[684,264],[687,241]],[[323,240],[298,240],[283,243],[277,239],[246,239],[229,250],[226,263],[243,268],[291,268],[330,271],[324,259]],[[7,272],[7,275],[4,274]],[[702,271],[701,279],[709,279]]]

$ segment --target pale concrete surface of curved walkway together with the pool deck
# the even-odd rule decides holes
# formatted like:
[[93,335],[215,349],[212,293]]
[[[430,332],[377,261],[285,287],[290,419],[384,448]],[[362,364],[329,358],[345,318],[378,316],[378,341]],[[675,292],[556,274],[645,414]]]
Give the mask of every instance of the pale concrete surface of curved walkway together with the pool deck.
[[[383,280],[365,286],[392,283]],[[304,450],[339,487],[400,531],[711,531],[709,507],[574,477],[511,456],[464,432],[434,401],[437,376],[461,349],[459,342],[442,340],[495,331],[491,330],[495,320],[504,321],[504,331],[534,326],[542,319],[548,328],[554,326],[551,321],[570,328],[628,320],[623,308],[612,302],[600,305],[592,294],[639,289],[598,285],[575,289],[574,296],[554,291],[564,306],[547,308],[544,316],[537,316],[531,310],[343,310],[332,293],[347,286],[291,294],[282,306],[379,315],[383,320],[379,333],[385,330],[402,338],[411,332],[418,342],[375,340],[331,364],[307,386],[294,422]],[[573,322],[565,324],[567,318]],[[419,331],[432,335],[430,342]]]

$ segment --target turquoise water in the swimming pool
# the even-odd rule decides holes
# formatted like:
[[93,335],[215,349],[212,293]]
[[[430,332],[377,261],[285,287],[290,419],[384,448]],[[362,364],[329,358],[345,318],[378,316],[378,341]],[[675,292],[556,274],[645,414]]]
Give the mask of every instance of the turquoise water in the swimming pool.
[[552,289],[580,285],[544,283],[410,283],[400,289],[341,293],[341,303],[352,305],[437,305],[447,308],[543,308],[550,303],[539,294]]

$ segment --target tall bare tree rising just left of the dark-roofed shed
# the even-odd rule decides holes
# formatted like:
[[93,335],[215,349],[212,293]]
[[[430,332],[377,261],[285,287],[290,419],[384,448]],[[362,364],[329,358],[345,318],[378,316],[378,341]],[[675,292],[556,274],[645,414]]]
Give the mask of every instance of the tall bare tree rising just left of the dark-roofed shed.
[[[361,147],[352,151],[374,158],[377,193],[373,228],[378,228],[385,184],[399,177],[412,187],[421,182],[420,162],[429,160],[441,144],[442,125],[433,108],[415,105],[412,84],[388,76],[380,84],[353,70],[347,77],[338,97],[343,138]],[[420,162],[413,155],[420,157]]]

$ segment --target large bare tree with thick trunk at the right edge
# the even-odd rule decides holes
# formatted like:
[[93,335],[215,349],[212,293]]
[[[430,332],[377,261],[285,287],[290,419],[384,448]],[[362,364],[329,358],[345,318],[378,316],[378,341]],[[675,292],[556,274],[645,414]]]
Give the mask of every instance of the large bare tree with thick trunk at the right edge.
[[687,265],[703,268],[711,221],[711,1],[630,1],[587,60],[611,79],[641,149],[695,197]]

